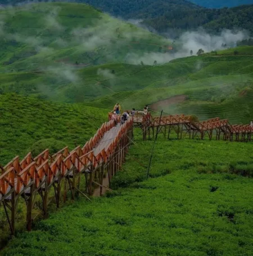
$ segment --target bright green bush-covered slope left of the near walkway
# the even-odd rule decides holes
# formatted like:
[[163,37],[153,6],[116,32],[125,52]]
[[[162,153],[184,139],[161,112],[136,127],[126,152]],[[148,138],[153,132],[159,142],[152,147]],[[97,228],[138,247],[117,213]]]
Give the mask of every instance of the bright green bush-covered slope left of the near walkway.
[[84,145],[106,121],[106,114],[83,104],[0,95],[0,164],[31,150],[35,156],[46,148],[53,153],[66,145]]

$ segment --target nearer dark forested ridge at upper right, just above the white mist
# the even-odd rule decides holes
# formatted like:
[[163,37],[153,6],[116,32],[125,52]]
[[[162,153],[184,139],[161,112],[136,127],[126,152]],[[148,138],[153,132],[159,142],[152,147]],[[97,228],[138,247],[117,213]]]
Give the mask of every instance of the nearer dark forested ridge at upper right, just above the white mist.
[[209,33],[219,33],[222,29],[246,29],[253,33],[253,5],[234,8],[174,8],[164,15],[150,16],[143,23],[159,32],[168,29],[189,30],[204,27]]

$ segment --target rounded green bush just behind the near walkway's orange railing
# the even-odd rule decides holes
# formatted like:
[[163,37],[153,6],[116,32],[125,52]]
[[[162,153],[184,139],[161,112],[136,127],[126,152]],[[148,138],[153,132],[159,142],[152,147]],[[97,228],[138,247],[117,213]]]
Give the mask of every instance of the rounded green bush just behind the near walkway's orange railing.
[[35,142],[31,146],[31,154],[33,156],[38,156],[45,149],[49,149],[51,154],[58,152],[60,149],[66,147],[67,143],[61,142],[60,140],[55,139],[42,139],[38,142]]

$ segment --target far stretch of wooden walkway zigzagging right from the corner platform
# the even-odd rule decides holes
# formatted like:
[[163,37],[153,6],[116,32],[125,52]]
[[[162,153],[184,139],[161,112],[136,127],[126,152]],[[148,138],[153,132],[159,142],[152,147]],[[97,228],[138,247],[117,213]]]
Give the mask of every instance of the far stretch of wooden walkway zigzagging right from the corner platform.
[[[130,112],[130,111],[129,111]],[[109,112],[109,120],[111,120],[112,112]],[[253,127],[250,125],[231,125],[227,119],[220,120],[219,117],[211,118],[202,122],[196,122],[196,118],[185,116],[184,114],[175,114],[169,116],[152,117],[150,113],[146,116],[143,112],[136,112],[133,117],[135,127],[140,127],[143,130],[143,140],[150,139],[151,133],[154,137],[155,129],[158,133],[164,134],[166,138],[170,138],[171,131],[175,131],[177,139],[182,139],[184,136],[189,138],[204,139],[207,136],[210,140],[213,135],[216,140],[250,142],[253,133]]]

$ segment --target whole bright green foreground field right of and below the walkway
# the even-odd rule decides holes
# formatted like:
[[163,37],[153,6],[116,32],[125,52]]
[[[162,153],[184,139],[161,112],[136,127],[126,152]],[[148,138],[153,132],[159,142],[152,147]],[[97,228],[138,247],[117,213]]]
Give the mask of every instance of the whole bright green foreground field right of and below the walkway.
[[61,209],[2,255],[251,255],[251,143],[159,138],[144,181],[152,142],[135,142],[117,191]]

